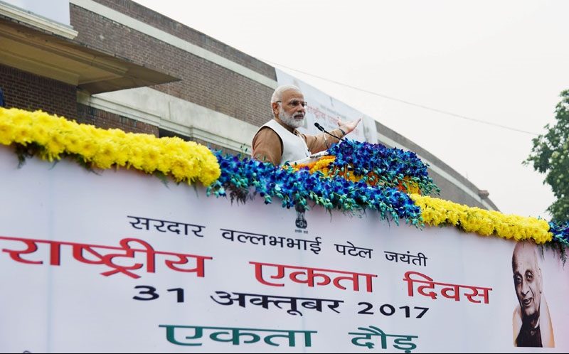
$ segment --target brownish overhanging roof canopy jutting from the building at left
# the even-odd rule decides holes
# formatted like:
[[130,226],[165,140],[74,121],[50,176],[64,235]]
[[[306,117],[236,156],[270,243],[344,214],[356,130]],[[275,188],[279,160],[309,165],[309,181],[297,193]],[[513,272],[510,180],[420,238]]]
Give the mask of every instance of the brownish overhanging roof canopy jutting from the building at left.
[[0,64],[91,94],[180,80],[6,16],[0,16],[0,48]]

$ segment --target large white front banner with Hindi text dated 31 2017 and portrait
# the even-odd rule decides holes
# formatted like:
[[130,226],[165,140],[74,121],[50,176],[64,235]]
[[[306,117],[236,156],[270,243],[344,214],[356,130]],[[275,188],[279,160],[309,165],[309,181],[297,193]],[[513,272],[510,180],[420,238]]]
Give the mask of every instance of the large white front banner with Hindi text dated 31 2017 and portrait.
[[496,237],[17,164],[0,147],[1,352],[536,352],[514,341],[537,307],[526,343],[569,350],[551,250],[516,251],[516,288]]

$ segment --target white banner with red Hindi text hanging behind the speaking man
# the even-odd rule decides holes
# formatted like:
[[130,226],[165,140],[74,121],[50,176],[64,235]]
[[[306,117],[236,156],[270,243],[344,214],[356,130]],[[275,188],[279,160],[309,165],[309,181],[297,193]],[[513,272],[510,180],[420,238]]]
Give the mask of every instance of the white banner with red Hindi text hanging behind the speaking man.
[[275,69],[277,72],[277,82],[279,85],[294,85],[299,87],[307,101],[307,114],[304,118],[304,126],[299,127],[299,132],[305,134],[319,134],[319,130],[314,127],[314,123],[319,123],[327,131],[331,131],[338,127],[337,119],[340,118],[344,122],[361,118],[360,124],[349,134],[348,138],[357,141],[368,141],[377,144],[378,134],[376,129],[376,121],[372,118],[358,112],[344,102],[336,100],[334,97],[326,95],[319,91],[316,87],[308,85],[306,82],[297,79],[297,77],[288,75],[282,70]]

